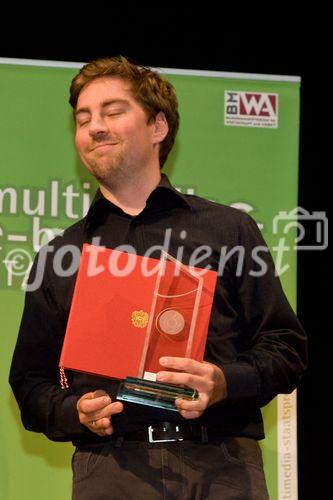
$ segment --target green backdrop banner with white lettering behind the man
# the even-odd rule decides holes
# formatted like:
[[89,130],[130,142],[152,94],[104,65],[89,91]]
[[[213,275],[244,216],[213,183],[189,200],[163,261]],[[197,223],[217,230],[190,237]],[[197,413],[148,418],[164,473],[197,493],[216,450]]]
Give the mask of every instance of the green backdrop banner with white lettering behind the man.
[[[71,496],[71,443],[25,431],[7,380],[33,256],[86,213],[96,188],[74,147],[68,89],[79,67],[0,60],[0,495],[6,500]],[[254,217],[295,306],[295,234],[283,234],[276,217],[297,207],[299,79],[162,72],[176,87],[181,116],[165,172],[182,192]],[[282,234],[288,252],[281,251]],[[295,398],[279,396],[263,409],[272,500],[297,498]]]

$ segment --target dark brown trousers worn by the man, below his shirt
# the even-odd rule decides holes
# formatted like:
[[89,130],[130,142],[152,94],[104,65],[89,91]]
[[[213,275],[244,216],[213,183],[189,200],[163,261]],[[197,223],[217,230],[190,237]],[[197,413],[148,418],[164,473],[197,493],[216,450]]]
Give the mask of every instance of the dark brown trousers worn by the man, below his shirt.
[[259,444],[243,437],[80,447],[72,469],[73,500],[269,498]]

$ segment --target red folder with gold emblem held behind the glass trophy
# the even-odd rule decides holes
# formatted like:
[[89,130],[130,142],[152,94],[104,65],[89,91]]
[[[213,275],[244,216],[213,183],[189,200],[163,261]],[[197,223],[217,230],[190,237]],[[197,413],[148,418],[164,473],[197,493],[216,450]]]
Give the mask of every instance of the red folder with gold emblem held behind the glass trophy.
[[202,361],[216,278],[165,252],[159,260],[83,245],[61,370],[152,378],[161,356]]

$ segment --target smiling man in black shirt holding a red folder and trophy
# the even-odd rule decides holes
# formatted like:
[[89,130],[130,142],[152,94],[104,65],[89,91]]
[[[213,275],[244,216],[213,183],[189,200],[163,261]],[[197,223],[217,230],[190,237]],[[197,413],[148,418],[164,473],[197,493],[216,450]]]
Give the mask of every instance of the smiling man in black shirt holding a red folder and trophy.
[[[23,424],[76,446],[75,499],[268,498],[260,407],[294,389],[307,354],[268,251],[260,254],[264,273],[253,258],[265,248],[260,231],[241,211],[183,195],[161,176],[178,111],[160,75],[123,57],[100,59],[80,70],[70,93],[76,147],[99,190],[87,216],[49,244],[42,285],[26,294],[10,373]],[[79,372],[68,372],[62,390],[58,361],[75,276],[57,275],[56,252],[98,237],[144,255],[163,245],[167,229],[169,253],[183,246],[185,264],[200,245],[211,249],[201,267],[215,270],[222,246],[243,249],[241,270],[231,252],[219,273],[205,361],[160,359],[158,380],[194,388],[199,399],[176,400],[177,412],[124,405],[116,381]],[[37,273],[38,259],[30,283]]]

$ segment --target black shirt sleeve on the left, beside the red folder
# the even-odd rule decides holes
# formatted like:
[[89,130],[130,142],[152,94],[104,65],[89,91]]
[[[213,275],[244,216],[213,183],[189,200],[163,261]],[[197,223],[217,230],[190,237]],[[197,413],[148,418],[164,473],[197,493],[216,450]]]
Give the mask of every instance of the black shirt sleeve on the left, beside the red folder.
[[[9,383],[27,430],[42,432],[53,441],[92,435],[78,418],[80,398],[60,386],[58,361],[66,320],[57,306],[46,264],[41,286],[27,291],[19,334],[10,367]],[[33,283],[38,256],[28,283]]]

